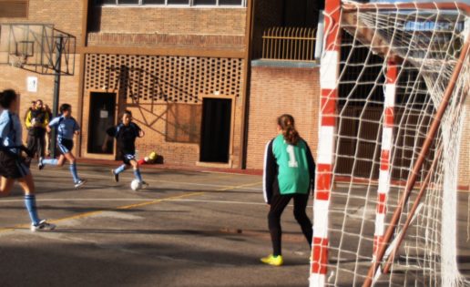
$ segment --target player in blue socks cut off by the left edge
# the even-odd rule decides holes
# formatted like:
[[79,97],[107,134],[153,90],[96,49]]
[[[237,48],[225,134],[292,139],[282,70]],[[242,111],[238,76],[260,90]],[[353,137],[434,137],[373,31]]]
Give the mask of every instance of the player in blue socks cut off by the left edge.
[[0,106],[4,108],[0,114],[0,196],[9,195],[15,180],[18,180],[25,191],[25,205],[31,218],[31,231],[52,231],[56,225],[40,220],[37,215],[35,182],[25,159],[21,156],[22,151],[27,151],[28,157],[33,156],[33,153],[21,142],[21,123],[14,112],[17,97],[11,89],[0,92]]

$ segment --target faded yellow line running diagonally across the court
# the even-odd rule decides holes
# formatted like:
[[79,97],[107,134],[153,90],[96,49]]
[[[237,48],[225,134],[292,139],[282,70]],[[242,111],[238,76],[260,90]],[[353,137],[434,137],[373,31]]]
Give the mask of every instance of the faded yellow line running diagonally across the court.
[[[238,185],[238,186],[230,186],[230,187],[226,187],[226,188],[215,190],[215,191],[235,190],[235,189],[240,189],[240,188],[244,188],[244,187],[251,186],[251,185],[257,185],[257,184],[260,184],[260,183],[261,182],[254,182],[254,183],[242,184],[242,185]],[[157,203],[160,203],[160,202],[163,202],[163,201],[180,200],[180,199],[183,199],[183,198],[198,196],[198,195],[202,195],[204,193],[207,193],[207,191],[191,192],[191,193],[187,193],[187,194],[170,196],[168,198],[163,198],[163,199],[158,199],[158,200],[150,200],[150,201],[145,201],[145,202],[136,203],[136,204],[123,205],[123,206],[118,206],[117,208],[109,209],[109,210],[131,210],[131,209],[135,209],[135,208],[142,207],[142,206],[157,204]],[[66,221],[66,220],[84,219],[84,218],[87,218],[87,217],[90,217],[90,216],[93,216],[93,215],[97,215],[97,214],[100,214],[100,213],[103,213],[103,212],[106,212],[106,211],[109,211],[109,210],[89,211],[89,212],[85,212],[85,213],[81,213],[81,214],[77,214],[77,215],[73,215],[73,216],[68,216],[68,217],[65,217],[65,218],[62,218],[62,219],[50,220],[50,222],[51,223],[58,223],[58,222],[61,222],[61,221]],[[21,224],[21,225],[16,225],[14,227],[2,228],[2,229],[0,229],[0,233],[5,233],[5,232],[8,232],[8,231],[15,231],[16,229],[25,229],[25,228],[29,228],[29,225]]]

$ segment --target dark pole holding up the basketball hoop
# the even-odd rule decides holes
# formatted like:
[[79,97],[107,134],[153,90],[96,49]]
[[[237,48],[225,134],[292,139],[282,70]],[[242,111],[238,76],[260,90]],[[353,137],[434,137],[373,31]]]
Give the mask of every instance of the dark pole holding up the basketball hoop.
[[[60,96],[60,69],[61,69],[61,60],[62,60],[62,46],[64,44],[64,37],[58,36],[56,38],[56,63],[54,64],[54,95],[52,98],[52,117],[56,118],[58,114],[58,103]],[[51,132],[51,157],[52,159],[56,158],[56,128],[52,129]]]

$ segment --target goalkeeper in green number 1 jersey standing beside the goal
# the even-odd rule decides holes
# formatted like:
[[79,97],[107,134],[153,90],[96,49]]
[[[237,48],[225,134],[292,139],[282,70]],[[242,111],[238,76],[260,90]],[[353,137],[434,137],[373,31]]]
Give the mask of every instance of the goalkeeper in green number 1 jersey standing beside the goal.
[[293,199],[294,217],[312,247],[312,221],[305,213],[312,182],[315,179],[315,162],[312,152],[294,126],[291,115],[278,118],[279,135],[266,146],[264,162],[264,200],[270,205],[268,223],[271,233],[272,254],[261,261],[281,266],[281,214]]

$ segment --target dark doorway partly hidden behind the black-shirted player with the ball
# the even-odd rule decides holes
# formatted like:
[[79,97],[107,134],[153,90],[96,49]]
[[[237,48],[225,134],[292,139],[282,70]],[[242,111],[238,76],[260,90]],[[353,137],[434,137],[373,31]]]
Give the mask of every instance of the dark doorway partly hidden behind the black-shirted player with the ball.
[[108,140],[103,150],[106,130],[115,123],[116,93],[90,93],[88,124],[88,153],[113,154],[113,141]]

